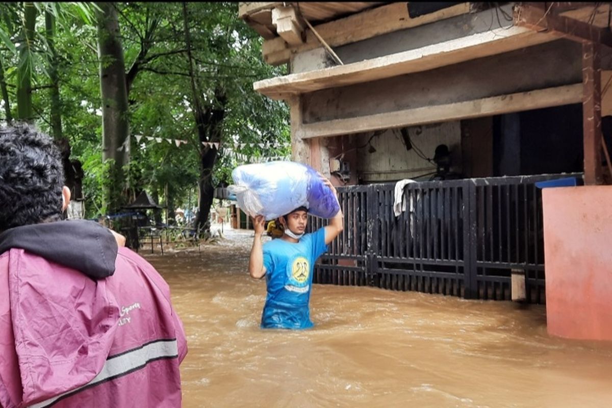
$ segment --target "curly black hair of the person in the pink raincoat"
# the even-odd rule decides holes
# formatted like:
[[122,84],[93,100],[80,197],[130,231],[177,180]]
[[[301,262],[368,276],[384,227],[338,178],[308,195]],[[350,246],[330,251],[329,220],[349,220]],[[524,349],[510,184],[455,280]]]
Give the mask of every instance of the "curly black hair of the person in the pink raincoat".
[[0,231],[59,220],[63,186],[53,139],[28,124],[0,127]]

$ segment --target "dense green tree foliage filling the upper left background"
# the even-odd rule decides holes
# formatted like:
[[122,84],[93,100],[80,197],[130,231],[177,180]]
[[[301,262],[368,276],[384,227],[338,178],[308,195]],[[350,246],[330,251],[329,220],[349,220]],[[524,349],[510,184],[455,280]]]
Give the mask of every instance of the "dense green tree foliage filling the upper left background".
[[[51,98],[48,78],[48,43],[44,12],[57,18],[54,48],[57,53],[62,131],[72,157],[83,163],[83,192],[87,217],[106,212],[103,187],[111,182],[108,163],[102,163],[102,122],[94,3],[34,3],[37,7],[35,39],[27,61],[20,61],[23,3],[0,4],[0,57],[16,111],[17,67],[29,64],[35,123],[50,132]],[[200,154],[185,53],[183,9],[180,2],[116,3],[129,83],[130,163],[125,174],[128,198],[141,190],[160,197],[160,205],[184,207],[191,195],[195,203],[201,177]],[[222,146],[247,143],[242,154],[250,157],[289,154],[288,109],[282,102],[253,91],[253,82],[285,74],[285,67],[270,67],[261,57],[262,39],[239,20],[236,2],[188,2],[195,81],[203,103],[214,105],[215,87],[228,97]],[[0,113],[3,113],[0,109]],[[188,144],[155,143],[134,135],[184,139]],[[263,144],[252,146],[252,143]],[[222,150],[213,182],[231,183],[231,171],[242,161]],[[168,186],[168,197],[165,187]]]

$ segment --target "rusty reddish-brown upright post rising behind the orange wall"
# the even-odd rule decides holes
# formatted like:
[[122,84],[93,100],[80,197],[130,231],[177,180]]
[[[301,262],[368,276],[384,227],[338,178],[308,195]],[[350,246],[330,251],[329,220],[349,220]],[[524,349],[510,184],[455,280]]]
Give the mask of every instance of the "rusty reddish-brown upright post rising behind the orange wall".
[[602,184],[602,70],[597,43],[582,45],[582,80],[584,184]]

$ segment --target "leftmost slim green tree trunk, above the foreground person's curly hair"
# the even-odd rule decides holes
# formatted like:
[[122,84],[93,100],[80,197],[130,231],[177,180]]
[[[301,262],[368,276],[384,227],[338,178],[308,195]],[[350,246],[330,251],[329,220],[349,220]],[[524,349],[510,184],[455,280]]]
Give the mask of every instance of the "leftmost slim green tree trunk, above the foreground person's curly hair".
[[25,2],[21,34],[19,65],[17,67],[17,119],[32,122],[32,46],[36,24],[34,3]]

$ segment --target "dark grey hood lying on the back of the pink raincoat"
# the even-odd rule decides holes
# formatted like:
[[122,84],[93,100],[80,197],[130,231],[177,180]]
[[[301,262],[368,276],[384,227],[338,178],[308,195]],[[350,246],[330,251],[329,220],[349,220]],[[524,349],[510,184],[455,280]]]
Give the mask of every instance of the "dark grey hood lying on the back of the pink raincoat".
[[12,248],[78,270],[94,280],[113,275],[118,250],[117,242],[107,228],[86,220],[7,229],[0,234],[0,254]]

